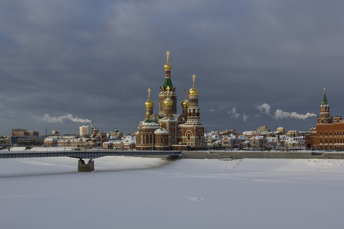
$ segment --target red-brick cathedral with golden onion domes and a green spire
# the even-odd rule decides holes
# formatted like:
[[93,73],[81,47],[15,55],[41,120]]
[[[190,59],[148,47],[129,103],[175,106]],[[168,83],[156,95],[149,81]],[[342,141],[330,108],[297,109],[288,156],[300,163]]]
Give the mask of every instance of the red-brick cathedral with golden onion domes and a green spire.
[[150,98],[151,89],[148,88],[148,100],[144,103],[146,115],[140,122],[136,132],[137,150],[202,150],[205,147],[204,126],[201,122],[201,112],[198,106],[198,90],[189,90],[189,100],[186,97],[181,103],[182,113],[177,113],[177,93],[172,85],[169,52],[167,63],[164,65],[165,80],[159,92],[159,113],[154,114],[154,102]]

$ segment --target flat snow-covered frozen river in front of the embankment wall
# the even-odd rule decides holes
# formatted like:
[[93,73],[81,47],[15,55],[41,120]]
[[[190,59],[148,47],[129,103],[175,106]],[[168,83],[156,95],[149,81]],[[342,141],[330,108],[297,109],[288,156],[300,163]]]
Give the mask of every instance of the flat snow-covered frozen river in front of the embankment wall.
[[[1,228],[341,228],[344,161],[0,160]],[[87,162],[87,160],[85,161]]]

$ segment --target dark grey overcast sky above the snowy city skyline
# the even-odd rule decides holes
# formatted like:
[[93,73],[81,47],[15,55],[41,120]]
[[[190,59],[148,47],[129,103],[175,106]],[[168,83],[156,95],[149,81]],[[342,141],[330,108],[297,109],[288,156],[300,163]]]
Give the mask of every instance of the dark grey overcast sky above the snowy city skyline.
[[[208,131],[309,131],[323,88],[343,116],[343,1],[0,2],[0,134],[137,131],[169,51]],[[78,118],[78,119],[76,119]],[[85,121],[83,123],[83,121]]]

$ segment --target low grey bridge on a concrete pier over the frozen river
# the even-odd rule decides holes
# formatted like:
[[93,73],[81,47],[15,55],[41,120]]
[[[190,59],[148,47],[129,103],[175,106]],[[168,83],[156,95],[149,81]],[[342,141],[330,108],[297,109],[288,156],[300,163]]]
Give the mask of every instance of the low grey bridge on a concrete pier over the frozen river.
[[[78,172],[94,171],[93,159],[104,156],[180,156],[181,151],[34,151],[34,152],[6,152],[0,153],[0,159],[26,157],[74,157],[78,158]],[[90,159],[87,164],[83,159]]]

